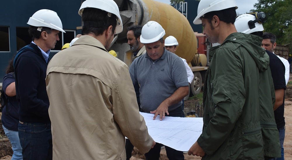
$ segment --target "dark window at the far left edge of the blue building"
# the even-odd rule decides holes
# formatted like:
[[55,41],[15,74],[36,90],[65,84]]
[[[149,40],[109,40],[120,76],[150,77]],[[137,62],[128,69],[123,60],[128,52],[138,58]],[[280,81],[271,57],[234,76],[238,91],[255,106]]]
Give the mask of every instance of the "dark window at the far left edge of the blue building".
[[9,27],[0,26],[0,52],[10,52]]

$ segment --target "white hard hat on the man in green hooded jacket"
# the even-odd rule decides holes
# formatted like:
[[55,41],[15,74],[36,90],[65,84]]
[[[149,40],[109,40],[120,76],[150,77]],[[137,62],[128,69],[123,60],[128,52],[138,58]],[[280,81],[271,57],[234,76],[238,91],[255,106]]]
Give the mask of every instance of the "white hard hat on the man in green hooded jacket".
[[200,17],[204,16],[206,13],[232,7],[238,8],[235,0],[201,0],[198,5],[198,15],[193,23],[201,24],[202,21]]

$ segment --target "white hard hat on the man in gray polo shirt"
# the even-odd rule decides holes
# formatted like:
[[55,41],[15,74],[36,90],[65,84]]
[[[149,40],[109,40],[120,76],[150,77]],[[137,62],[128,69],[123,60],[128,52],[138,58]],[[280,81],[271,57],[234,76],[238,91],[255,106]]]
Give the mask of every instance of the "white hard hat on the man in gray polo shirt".
[[157,42],[164,35],[165,31],[159,23],[149,21],[142,27],[140,42],[144,44]]

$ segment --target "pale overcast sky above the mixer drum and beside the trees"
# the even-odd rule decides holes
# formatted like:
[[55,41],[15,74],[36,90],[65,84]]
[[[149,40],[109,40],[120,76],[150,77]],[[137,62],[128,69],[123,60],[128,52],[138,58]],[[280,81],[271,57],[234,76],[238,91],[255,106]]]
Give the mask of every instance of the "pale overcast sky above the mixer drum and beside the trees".
[[[155,0],[155,1],[170,4],[169,0]],[[246,12],[248,13],[249,10],[254,9],[253,5],[258,2],[257,0],[235,0],[235,1],[238,5],[238,9],[236,10],[236,12],[239,14],[245,14]]]

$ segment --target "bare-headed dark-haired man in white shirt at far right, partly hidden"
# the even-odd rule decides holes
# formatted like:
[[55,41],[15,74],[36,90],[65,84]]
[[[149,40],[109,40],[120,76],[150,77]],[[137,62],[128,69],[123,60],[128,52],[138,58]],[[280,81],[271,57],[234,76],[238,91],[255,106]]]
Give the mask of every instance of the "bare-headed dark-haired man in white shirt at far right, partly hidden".
[[[262,38],[263,38],[262,47],[275,54],[274,49],[277,46],[276,35],[274,35],[273,33],[265,32],[263,33]],[[280,57],[278,55],[277,57],[280,58],[280,60],[283,62],[285,66],[285,80],[287,85],[290,78],[290,64],[288,60],[286,60],[285,58]]]

